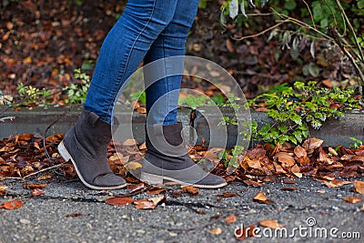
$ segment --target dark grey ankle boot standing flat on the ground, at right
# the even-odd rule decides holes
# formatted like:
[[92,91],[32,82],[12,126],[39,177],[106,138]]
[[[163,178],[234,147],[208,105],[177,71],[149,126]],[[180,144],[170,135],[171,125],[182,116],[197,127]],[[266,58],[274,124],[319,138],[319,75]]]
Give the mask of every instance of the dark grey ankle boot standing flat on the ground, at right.
[[222,177],[209,174],[187,154],[181,135],[182,124],[146,127],[147,154],[143,161],[141,180],[162,184],[164,180],[194,187],[224,187]]

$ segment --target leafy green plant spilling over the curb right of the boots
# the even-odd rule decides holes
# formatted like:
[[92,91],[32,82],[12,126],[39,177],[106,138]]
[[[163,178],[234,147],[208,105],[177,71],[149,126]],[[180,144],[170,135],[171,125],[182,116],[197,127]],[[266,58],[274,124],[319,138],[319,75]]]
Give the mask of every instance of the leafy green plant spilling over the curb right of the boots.
[[353,94],[354,89],[318,87],[314,81],[276,86],[250,101],[251,106],[264,107],[274,120],[272,125],[252,127],[252,137],[272,144],[301,143],[308,137],[308,126],[319,129],[329,117],[341,119],[345,110],[357,108],[359,100]]

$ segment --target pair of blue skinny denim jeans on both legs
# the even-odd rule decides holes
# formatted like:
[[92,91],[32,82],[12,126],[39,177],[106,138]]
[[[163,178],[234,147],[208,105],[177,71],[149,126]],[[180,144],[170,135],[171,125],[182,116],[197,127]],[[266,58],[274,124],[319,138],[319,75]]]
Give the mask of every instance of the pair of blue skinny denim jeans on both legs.
[[[137,66],[184,56],[199,0],[129,0],[101,46],[85,109],[112,123],[119,90]],[[183,68],[183,63],[181,63]],[[167,68],[167,67],[166,67]],[[176,124],[181,76],[167,76],[147,87],[148,124]],[[158,102],[168,94],[167,102]],[[149,112],[154,104],[153,112]]]

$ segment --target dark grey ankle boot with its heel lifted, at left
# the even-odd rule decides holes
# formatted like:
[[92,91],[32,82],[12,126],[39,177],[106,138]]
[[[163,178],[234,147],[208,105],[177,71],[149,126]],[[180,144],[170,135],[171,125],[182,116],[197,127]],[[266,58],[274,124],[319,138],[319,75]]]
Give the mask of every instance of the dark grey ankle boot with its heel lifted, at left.
[[111,170],[106,157],[111,126],[95,113],[84,110],[58,146],[59,154],[71,160],[81,181],[93,189],[118,189],[126,181]]

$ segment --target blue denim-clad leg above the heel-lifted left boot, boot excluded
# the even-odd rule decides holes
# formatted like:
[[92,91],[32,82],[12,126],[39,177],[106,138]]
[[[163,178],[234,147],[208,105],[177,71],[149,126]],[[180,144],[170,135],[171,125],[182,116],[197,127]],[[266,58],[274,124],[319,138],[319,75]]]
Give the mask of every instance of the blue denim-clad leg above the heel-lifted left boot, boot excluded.
[[106,36],[86,97],[85,109],[111,124],[116,96],[172,20],[177,0],[129,0]]

